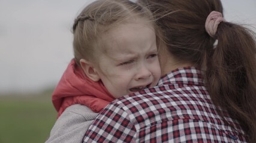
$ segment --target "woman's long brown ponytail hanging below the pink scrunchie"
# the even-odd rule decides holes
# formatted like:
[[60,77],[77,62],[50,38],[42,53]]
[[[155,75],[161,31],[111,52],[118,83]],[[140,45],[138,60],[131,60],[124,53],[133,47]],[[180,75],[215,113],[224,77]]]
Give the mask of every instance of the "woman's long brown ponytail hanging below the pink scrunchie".
[[[207,50],[206,86],[213,103],[237,119],[256,142],[256,43],[249,29],[221,22],[218,45]],[[222,115],[224,116],[224,115]]]

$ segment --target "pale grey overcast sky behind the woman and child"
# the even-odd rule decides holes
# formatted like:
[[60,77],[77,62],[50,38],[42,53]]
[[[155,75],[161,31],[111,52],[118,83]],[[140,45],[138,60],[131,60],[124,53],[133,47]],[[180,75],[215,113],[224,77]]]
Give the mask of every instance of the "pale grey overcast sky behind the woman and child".
[[[73,57],[73,20],[92,1],[0,0],[0,95],[56,86]],[[227,21],[256,27],[256,0],[222,3]]]

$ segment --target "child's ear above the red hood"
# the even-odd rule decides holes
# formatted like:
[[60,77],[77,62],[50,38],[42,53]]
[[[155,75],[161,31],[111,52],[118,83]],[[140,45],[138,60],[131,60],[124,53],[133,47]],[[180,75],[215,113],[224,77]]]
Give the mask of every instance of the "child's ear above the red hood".
[[91,62],[85,59],[81,59],[80,65],[86,76],[88,76],[91,80],[93,80],[94,82],[98,82],[100,80],[100,76]]

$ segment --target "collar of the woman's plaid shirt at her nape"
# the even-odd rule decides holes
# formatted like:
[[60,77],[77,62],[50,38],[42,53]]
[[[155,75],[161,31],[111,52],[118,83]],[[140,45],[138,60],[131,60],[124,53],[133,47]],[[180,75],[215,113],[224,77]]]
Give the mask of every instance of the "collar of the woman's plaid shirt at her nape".
[[204,85],[201,70],[196,67],[180,67],[162,76],[159,85],[189,84]]

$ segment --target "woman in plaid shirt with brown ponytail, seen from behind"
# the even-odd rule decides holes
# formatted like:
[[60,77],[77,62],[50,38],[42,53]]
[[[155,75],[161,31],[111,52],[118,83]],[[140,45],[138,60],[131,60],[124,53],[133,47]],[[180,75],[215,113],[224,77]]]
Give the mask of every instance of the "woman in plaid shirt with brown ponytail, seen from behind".
[[107,106],[84,142],[256,142],[255,35],[219,0],[138,2],[165,36],[164,76]]

